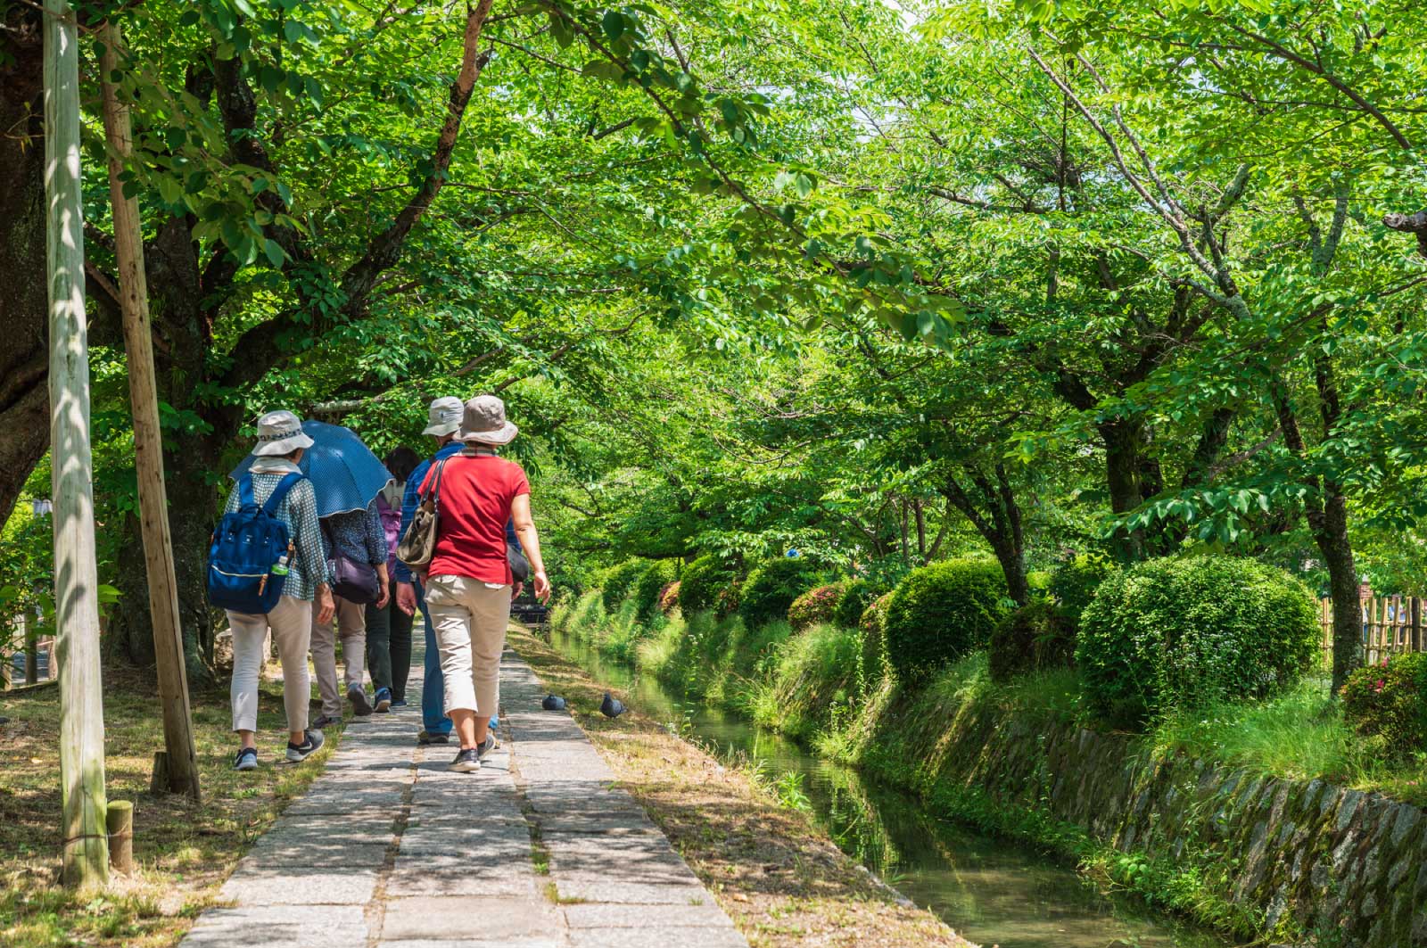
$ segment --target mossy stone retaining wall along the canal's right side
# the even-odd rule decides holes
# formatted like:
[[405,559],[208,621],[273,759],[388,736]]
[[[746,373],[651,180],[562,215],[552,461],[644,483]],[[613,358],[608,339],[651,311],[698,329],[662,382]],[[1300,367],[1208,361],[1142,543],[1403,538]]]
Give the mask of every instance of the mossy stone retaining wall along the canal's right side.
[[936,781],[1049,811],[1124,852],[1200,867],[1263,932],[1296,929],[1324,948],[1427,947],[1418,807],[1154,757],[1126,735],[1066,722],[968,710],[945,725],[925,758]]

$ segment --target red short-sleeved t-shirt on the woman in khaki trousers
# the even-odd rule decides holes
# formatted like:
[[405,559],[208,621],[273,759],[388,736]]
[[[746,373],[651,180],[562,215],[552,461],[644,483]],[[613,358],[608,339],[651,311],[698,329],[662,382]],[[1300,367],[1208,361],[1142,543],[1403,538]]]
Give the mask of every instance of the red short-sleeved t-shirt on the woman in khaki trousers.
[[[431,490],[431,465],[421,493]],[[437,507],[441,520],[428,575],[459,575],[481,583],[511,583],[505,524],[511,501],[531,493],[521,465],[494,454],[455,454],[445,461]]]

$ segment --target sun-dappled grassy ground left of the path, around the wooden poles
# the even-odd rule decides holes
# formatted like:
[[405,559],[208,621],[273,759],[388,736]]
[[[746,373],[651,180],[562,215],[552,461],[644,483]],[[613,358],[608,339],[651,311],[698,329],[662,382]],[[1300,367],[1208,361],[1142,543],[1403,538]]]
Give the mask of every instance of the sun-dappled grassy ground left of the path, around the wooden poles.
[[[104,752],[110,800],[134,801],[134,862],[101,895],[76,897],[56,884],[60,849],[59,688],[0,694],[0,944],[7,948],[176,944],[214,899],[248,845],[321,772],[330,750],[303,765],[274,764],[287,742],[281,694],[258,702],[257,771],[231,770],[237,748],[227,691],[194,694],[194,740],[203,805],[153,797],[148,775],[161,750],[154,682],[104,672]],[[338,731],[328,730],[328,748]]]

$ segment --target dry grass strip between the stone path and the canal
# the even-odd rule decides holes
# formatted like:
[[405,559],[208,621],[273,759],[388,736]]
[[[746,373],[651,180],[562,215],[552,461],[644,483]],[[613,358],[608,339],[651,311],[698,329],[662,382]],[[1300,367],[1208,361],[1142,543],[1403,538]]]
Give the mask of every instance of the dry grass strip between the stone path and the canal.
[[753,948],[970,945],[932,912],[899,901],[806,815],[781,807],[742,770],[719,764],[636,708],[605,718],[604,684],[527,630],[512,627],[511,644],[547,688],[569,701],[619,785]]

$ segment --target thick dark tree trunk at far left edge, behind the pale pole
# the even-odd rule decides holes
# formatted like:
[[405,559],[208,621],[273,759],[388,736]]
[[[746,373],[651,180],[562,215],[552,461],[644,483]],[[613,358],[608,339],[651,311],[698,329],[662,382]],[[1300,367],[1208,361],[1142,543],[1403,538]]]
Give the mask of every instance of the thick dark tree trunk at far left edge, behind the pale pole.
[[0,23],[0,524],[50,447],[40,13]]

